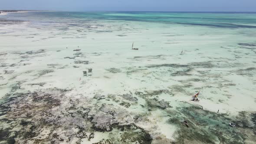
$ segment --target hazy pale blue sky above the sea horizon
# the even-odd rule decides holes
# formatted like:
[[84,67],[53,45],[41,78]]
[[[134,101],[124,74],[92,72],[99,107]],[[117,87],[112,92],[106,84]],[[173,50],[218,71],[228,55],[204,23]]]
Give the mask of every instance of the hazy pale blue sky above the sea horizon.
[[0,10],[255,12],[256,0],[1,0]]

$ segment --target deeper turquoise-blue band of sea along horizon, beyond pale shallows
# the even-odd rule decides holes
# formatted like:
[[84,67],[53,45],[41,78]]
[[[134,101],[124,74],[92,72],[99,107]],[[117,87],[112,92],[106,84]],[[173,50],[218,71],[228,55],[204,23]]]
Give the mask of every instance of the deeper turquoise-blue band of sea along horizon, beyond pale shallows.
[[13,18],[45,23],[125,20],[222,28],[256,28],[256,13],[28,12],[12,13],[8,16],[8,19]]

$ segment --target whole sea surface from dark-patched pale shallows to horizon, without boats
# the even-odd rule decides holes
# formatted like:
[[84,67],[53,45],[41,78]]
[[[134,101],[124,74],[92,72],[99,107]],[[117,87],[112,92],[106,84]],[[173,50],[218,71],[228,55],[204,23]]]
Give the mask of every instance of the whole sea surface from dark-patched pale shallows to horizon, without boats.
[[1,142],[256,141],[255,13],[24,12],[0,23]]

